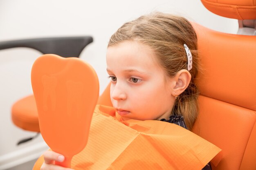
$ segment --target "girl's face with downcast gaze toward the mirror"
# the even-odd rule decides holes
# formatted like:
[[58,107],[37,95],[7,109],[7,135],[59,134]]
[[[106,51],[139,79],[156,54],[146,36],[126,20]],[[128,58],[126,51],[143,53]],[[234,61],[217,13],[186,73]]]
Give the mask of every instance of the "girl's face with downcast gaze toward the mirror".
[[166,77],[150,47],[124,41],[107,50],[110,97],[124,120],[167,119],[173,108],[175,81]]

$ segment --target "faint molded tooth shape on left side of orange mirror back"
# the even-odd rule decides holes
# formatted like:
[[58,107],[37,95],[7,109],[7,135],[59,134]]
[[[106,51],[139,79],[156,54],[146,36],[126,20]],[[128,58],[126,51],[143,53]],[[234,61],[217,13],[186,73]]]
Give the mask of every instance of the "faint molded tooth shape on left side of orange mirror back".
[[42,83],[43,83],[43,110],[47,111],[48,110],[48,103],[47,99],[51,100],[51,106],[52,106],[52,111],[55,110],[56,108],[56,91],[55,88],[57,86],[57,80],[56,77],[54,76],[47,76],[43,75],[42,76]]

